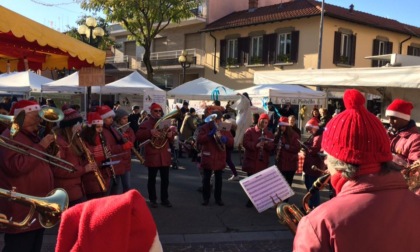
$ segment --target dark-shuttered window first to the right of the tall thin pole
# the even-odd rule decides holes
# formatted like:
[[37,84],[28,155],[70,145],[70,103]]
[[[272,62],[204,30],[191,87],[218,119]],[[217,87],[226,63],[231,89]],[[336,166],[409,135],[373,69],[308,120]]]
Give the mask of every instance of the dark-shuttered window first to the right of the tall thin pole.
[[354,66],[356,55],[356,36],[350,32],[335,32],[334,64]]

